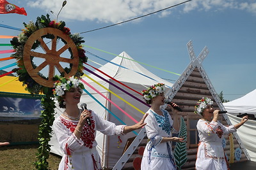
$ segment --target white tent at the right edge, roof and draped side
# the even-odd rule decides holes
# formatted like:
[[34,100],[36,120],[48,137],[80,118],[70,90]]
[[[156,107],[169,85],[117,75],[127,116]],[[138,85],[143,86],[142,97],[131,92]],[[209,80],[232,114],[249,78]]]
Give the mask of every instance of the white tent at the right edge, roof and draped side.
[[[246,94],[245,96],[223,103],[225,110],[228,112],[228,118],[233,125],[238,124],[241,118],[236,117],[239,113],[253,114],[256,117],[256,89]],[[248,151],[251,160],[256,161],[256,121],[248,120],[243,126],[237,130],[237,134],[243,141],[243,144]]]

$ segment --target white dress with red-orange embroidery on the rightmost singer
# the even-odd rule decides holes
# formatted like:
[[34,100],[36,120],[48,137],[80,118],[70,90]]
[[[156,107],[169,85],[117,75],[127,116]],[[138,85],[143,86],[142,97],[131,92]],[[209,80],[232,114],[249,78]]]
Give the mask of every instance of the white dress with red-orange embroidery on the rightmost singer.
[[220,122],[198,120],[196,128],[200,143],[196,155],[196,170],[225,170],[227,162],[222,146],[223,134],[236,132],[234,125],[225,127]]

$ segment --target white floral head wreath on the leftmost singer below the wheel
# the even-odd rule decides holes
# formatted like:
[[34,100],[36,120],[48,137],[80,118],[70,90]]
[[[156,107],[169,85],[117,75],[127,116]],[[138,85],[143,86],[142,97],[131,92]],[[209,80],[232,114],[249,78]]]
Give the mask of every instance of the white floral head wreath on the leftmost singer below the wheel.
[[83,92],[82,89],[84,89],[84,85],[81,82],[81,80],[79,80],[77,77],[75,76],[71,76],[70,78],[61,77],[61,78],[58,78],[58,80],[54,83],[53,94],[60,102],[65,94],[65,91],[68,91],[71,88],[77,88],[77,87],[79,87],[79,89],[81,89],[81,92]]

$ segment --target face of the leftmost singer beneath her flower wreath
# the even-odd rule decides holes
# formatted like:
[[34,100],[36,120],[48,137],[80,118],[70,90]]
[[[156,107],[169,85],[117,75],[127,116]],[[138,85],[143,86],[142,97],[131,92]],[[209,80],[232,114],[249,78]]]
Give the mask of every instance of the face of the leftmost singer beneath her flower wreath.
[[81,98],[81,89],[79,87],[77,88],[71,88],[69,91],[65,92],[64,101],[67,104],[78,104],[80,102]]

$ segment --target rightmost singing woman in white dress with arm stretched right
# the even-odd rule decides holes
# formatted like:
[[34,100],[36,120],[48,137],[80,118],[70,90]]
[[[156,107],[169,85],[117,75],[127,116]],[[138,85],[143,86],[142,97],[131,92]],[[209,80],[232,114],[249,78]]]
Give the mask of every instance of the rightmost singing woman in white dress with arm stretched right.
[[223,134],[236,132],[236,129],[248,120],[248,116],[245,116],[239,124],[225,127],[218,121],[220,110],[214,110],[212,104],[210,98],[203,97],[195,106],[195,113],[203,116],[196,125],[200,140],[196,155],[196,170],[229,169],[222,146]]

